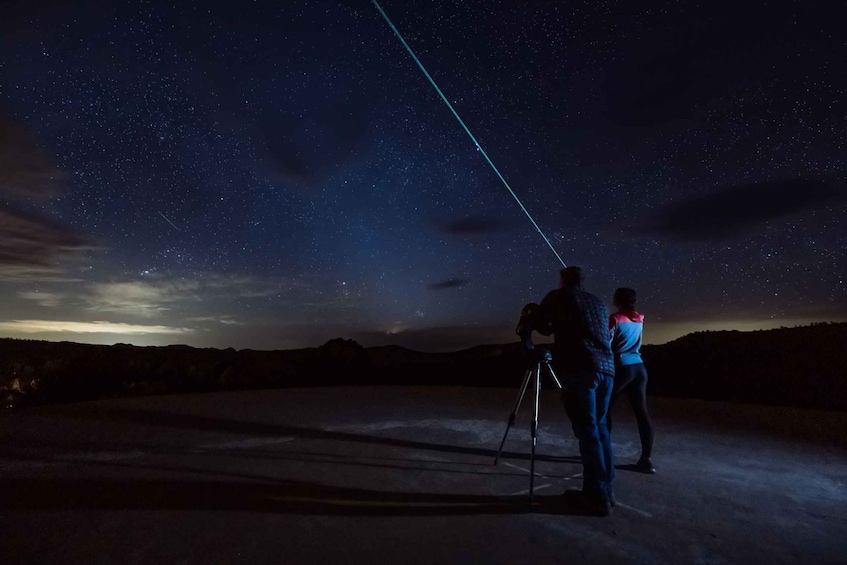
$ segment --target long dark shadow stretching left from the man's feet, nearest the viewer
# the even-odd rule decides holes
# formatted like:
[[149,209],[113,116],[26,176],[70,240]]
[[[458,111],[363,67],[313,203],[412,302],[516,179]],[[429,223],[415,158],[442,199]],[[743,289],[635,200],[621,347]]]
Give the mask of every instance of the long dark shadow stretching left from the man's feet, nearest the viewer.
[[204,510],[328,515],[578,515],[564,497],[386,492],[305,481],[12,479],[0,485],[7,510]]

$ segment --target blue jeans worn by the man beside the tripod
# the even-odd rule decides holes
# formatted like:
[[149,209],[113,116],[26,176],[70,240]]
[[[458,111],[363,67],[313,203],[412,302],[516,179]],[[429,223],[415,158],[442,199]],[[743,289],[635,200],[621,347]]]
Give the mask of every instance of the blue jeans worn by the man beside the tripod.
[[582,490],[592,497],[611,498],[615,465],[606,418],[614,379],[604,373],[580,371],[564,376],[562,401],[579,440]]

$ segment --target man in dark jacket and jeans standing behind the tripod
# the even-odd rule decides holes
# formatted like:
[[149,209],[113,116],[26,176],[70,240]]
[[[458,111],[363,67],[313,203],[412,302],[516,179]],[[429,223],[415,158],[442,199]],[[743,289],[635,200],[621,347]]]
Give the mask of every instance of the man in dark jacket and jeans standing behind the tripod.
[[615,467],[606,418],[615,375],[609,311],[582,289],[579,267],[559,274],[559,288],[547,293],[533,317],[536,331],[554,335],[553,362],[562,376],[562,400],[579,440],[582,490],[565,501],[588,514],[608,516],[614,505]]

